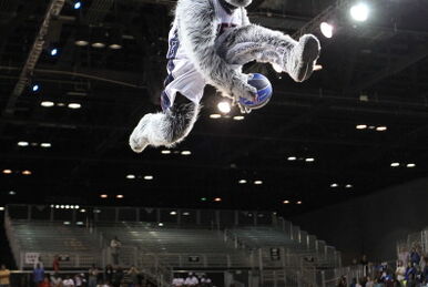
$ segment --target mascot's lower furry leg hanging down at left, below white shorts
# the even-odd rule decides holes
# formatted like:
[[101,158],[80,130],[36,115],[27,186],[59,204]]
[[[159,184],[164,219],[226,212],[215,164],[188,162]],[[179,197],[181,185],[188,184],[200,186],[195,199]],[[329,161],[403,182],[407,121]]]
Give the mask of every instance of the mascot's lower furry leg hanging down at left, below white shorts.
[[165,112],[146,114],[141,119],[130,136],[130,146],[134,152],[141,153],[149,145],[171,147],[188,135],[200,105],[180,94],[176,101]]

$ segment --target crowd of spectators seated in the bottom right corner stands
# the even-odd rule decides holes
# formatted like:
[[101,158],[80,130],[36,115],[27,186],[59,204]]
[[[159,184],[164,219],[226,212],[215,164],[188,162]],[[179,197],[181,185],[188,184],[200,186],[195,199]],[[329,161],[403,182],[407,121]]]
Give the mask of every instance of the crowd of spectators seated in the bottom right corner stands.
[[[364,260],[364,262],[363,262]],[[364,276],[359,279],[343,276],[338,287],[428,287],[428,256],[417,248],[400,250],[395,264],[370,265],[367,258],[360,262]]]

